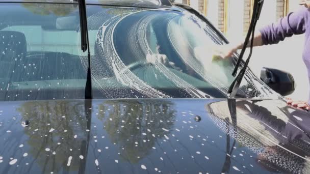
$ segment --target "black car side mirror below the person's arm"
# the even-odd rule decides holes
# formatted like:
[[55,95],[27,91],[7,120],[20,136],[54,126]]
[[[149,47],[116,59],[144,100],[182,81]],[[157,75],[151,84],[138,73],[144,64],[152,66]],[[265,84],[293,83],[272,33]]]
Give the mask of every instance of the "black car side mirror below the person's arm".
[[294,77],[285,71],[264,67],[261,70],[261,80],[282,96],[290,95],[295,91]]

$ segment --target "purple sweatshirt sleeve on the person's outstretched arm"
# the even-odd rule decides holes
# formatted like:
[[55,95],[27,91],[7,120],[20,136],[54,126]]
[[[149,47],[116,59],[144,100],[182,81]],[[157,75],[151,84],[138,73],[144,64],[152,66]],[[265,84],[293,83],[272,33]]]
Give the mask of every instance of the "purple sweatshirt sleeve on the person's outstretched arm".
[[261,28],[263,45],[276,44],[286,37],[305,33],[307,13],[309,13],[307,8],[301,8],[280,18],[277,23]]

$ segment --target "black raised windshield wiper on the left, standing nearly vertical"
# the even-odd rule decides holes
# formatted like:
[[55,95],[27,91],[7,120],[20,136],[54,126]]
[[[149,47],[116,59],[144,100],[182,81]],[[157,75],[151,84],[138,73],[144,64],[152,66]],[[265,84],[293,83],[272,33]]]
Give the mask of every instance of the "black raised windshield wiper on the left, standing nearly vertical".
[[89,50],[88,28],[87,28],[86,3],[85,0],[75,0],[75,1],[79,3],[81,49],[83,52],[85,52],[86,50],[88,51],[87,52],[88,67],[87,67],[87,79],[85,85],[85,99],[92,99],[91,66],[90,66],[90,50]]

